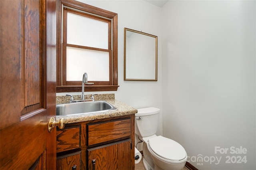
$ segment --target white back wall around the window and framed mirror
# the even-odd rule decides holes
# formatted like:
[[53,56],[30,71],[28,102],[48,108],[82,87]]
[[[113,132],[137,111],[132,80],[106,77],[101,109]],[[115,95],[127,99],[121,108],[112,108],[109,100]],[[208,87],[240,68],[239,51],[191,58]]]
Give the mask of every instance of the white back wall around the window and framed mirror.
[[[117,100],[136,109],[157,107],[162,110],[161,8],[142,0],[78,1],[118,14],[118,85],[120,87],[117,91],[97,93],[115,93]],[[124,28],[158,36],[158,81],[124,81]],[[85,94],[92,93],[86,92]],[[57,93],[57,95],[65,94]],[[80,93],[70,94],[80,95]],[[162,114],[157,134],[162,134]]]

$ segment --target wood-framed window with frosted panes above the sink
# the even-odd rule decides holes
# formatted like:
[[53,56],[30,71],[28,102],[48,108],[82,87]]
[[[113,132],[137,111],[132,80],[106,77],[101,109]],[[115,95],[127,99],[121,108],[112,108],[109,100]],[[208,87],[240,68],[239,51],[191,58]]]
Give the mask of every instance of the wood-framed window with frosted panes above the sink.
[[58,1],[57,92],[118,88],[117,14],[73,0]]

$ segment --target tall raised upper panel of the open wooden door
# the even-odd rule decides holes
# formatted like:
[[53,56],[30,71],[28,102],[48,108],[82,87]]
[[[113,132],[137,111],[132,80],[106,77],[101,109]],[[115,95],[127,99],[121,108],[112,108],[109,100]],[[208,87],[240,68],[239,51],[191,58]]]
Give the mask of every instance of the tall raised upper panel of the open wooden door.
[[[43,1],[41,1],[43,2]],[[40,15],[39,0],[24,1],[24,80],[25,107],[41,103],[42,100],[42,59],[40,57]],[[42,22],[41,22],[42,23]],[[41,26],[41,28],[43,25]],[[41,79],[40,79],[41,78]],[[38,107],[42,107],[38,105]]]

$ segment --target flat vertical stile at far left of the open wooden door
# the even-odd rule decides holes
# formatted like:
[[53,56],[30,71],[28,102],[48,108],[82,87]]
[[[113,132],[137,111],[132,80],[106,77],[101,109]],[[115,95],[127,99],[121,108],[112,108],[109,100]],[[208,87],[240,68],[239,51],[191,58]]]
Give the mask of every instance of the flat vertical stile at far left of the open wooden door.
[[19,8],[20,2],[0,1],[0,129],[18,123],[22,110],[20,10],[12,10]]

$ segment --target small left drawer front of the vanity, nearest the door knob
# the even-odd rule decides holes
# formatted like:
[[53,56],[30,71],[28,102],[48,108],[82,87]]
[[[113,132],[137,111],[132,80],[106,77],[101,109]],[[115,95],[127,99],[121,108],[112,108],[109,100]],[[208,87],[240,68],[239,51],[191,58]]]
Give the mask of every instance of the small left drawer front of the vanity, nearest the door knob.
[[80,148],[80,126],[57,131],[57,152]]

